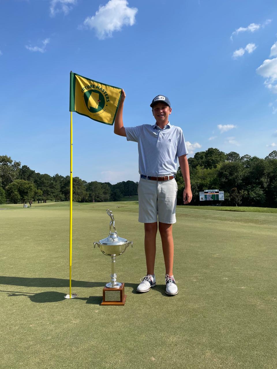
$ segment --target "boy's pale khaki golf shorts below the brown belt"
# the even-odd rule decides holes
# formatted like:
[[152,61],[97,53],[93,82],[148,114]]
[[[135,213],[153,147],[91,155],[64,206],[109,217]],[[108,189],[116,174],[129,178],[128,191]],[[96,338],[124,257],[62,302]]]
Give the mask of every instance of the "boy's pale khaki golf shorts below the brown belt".
[[138,183],[138,221],[140,223],[176,223],[177,183],[175,179]]

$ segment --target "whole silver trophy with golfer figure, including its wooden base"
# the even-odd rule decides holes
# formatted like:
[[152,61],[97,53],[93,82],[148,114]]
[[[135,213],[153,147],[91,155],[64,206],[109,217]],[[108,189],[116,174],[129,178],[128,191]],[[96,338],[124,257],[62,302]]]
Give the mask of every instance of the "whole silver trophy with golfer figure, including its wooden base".
[[119,283],[116,280],[115,261],[116,256],[125,252],[126,248],[133,241],[128,241],[126,238],[119,237],[114,227],[114,217],[111,210],[107,209],[107,214],[110,216],[110,233],[108,237],[100,239],[99,242],[94,242],[94,247],[98,245],[104,255],[110,256],[112,259],[112,274],[110,275],[110,282],[103,288],[103,301],[100,305],[124,305],[126,301],[126,294],[124,292],[124,283]]

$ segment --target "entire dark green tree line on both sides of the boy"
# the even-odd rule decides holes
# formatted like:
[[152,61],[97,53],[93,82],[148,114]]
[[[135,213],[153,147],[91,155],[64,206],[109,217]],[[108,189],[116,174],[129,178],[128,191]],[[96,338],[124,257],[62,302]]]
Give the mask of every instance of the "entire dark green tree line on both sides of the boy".
[[[208,189],[224,191],[224,205],[277,207],[277,151],[266,158],[225,154],[217,148],[196,152],[188,159],[193,198],[191,204],[211,204],[199,201],[199,192]],[[181,205],[184,179],[180,168],[177,204]],[[77,202],[120,201],[122,197],[137,195],[138,182],[86,182],[73,177],[72,200]],[[0,204],[27,201],[69,201],[70,177],[36,173],[27,165],[0,156]],[[215,203],[215,201],[213,201]]]

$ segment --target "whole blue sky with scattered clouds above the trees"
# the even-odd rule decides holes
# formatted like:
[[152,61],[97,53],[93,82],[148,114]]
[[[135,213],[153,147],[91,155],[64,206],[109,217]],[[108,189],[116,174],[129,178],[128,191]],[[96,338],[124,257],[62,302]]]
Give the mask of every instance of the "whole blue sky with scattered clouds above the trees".
[[[0,155],[69,175],[69,72],[123,88],[124,125],[171,101],[189,156],[277,149],[276,1],[2,0]],[[138,180],[137,145],[73,113],[73,176]]]

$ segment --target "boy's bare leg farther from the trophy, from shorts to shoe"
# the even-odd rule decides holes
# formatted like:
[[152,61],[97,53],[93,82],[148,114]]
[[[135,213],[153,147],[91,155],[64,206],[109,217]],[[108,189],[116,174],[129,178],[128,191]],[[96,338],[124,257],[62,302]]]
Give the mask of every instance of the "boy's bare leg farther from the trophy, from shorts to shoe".
[[163,245],[165,274],[173,275],[174,243],[172,237],[172,224],[159,222],[159,232]]

